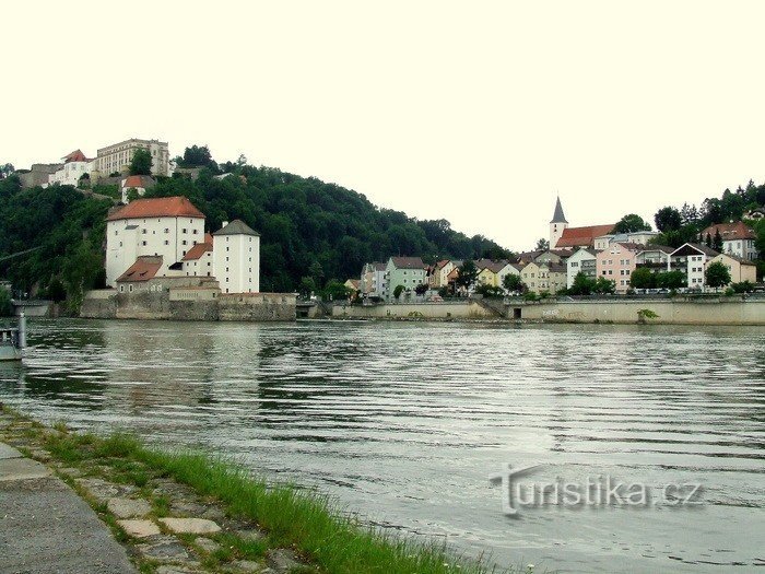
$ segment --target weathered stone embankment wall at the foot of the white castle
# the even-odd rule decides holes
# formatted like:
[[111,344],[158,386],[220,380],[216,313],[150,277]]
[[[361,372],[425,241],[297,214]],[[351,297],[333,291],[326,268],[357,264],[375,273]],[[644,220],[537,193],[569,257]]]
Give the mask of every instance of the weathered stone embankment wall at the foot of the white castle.
[[292,293],[225,293],[214,298],[183,298],[173,290],[117,293],[105,289],[90,291],[80,316],[92,319],[173,320],[295,320]]

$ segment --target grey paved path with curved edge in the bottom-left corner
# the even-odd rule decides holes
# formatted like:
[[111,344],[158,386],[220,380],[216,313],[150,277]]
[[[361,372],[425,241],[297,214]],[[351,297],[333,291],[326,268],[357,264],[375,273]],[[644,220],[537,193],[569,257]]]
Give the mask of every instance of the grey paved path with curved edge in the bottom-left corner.
[[137,572],[85,501],[48,467],[5,443],[0,443],[0,557],[3,574]]

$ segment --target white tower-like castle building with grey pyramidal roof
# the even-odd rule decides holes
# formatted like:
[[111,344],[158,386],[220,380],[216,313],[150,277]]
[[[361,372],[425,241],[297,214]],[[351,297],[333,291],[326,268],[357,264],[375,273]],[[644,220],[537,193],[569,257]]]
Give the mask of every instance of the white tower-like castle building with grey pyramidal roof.
[[224,221],[212,237],[213,269],[221,292],[258,293],[260,235],[242,220],[234,220]]

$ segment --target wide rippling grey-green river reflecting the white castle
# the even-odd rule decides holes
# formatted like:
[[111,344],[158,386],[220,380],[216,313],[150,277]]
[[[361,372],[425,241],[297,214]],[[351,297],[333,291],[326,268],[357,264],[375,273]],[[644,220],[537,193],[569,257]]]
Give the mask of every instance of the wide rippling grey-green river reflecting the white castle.
[[[0,365],[0,400],[23,412],[224,453],[468,555],[765,572],[763,328],[58,320],[30,343]],[[507,516],[490,476],[508,464],[539,466],[515,481],[527,493],[649,496],[516,499]],[[701,488],[678,504],[674,484]]]

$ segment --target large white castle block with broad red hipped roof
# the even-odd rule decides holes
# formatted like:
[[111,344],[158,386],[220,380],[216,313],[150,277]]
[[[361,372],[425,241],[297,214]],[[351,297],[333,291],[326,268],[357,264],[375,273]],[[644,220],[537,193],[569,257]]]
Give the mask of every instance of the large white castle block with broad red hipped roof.
[[181,274],[184,256],[204,241],[204,214],[185,197],[139,199],[106,218],[106,284],[139,257],[161,256],[157,277]]

